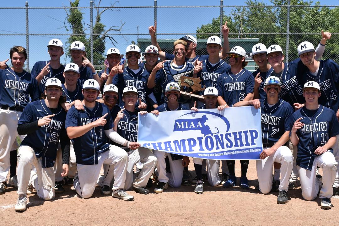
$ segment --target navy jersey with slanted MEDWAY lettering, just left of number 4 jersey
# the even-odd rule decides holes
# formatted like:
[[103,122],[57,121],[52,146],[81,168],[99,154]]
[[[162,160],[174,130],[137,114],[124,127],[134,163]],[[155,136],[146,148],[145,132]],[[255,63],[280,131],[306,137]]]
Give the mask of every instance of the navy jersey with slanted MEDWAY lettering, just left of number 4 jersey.
[[300,61],[300,58],[295,59],[290,63],[284,63],[284,70],[281,76],[277,76],[274,72],[272,76],[277,76],[281,82],[281,91],[279,98],[287,101],[292,106],[294,103],[304,103],[305,98],[302,96],[302,87],[300,75],[307,67]]

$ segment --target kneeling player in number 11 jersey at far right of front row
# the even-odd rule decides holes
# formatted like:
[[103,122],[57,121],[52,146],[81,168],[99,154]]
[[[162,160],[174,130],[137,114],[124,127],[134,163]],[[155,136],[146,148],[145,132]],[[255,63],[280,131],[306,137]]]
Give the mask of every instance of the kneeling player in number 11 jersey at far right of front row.
[[[304,199],[311,201],[320,190],[321,209],[331,209],[338,164],[332,146],[337,142],[339,123],[333,110],[318,103],[320,86],[317,82],[306,82],[303,96],[305,106],[295,111],[290,121],[291,142],[298,145],[301,193]],[[323,177],[316,175],[317,167],[322,168]]]

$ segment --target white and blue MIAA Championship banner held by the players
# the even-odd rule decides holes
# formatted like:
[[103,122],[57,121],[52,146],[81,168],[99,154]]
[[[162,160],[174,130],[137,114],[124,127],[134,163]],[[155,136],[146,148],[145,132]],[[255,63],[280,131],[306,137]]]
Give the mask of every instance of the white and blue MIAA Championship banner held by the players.
[[203,159],[259,159],[260,109],[253,106],[181,110],[138,116],[141,146]]

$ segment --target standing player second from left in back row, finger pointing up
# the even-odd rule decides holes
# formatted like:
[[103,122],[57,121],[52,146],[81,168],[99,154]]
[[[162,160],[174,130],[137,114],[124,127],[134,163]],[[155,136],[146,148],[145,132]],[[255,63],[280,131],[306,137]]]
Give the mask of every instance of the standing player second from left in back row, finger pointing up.
[[57,78],[61,83],[65,82],[62,76],[65,67],[60,64],[60,57],[64,54],[62,42],[59,39],[52,39],[47,47],[51,60],[36,62],[31,71],[38,81],[40,94],[44,94],[45,83],[49,78]]

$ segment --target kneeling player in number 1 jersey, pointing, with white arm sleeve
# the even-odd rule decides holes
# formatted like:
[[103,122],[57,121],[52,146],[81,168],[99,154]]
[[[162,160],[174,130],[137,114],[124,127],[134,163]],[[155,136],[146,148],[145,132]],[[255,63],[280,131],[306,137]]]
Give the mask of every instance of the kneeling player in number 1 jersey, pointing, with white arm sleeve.
[[112,196],[132,201],[134,197],[123,190],[128,165],[127,153],[120,147],[108,144],[106,136],[132,150],[137,149],[139,144],[125,140],[112,129],[113,120],[109,109],[96,101],[99,95],[99,83],[96,80],[86,80],[82,93],[84,110],[79,111],[72,106],[66,117],[66,130],[69,138],[73,139],[78,169],[74,188],[82,198],[91,197],[102,165],[108,164],[112,167],[105,172],[102,186],[109,185],[114,177]]

